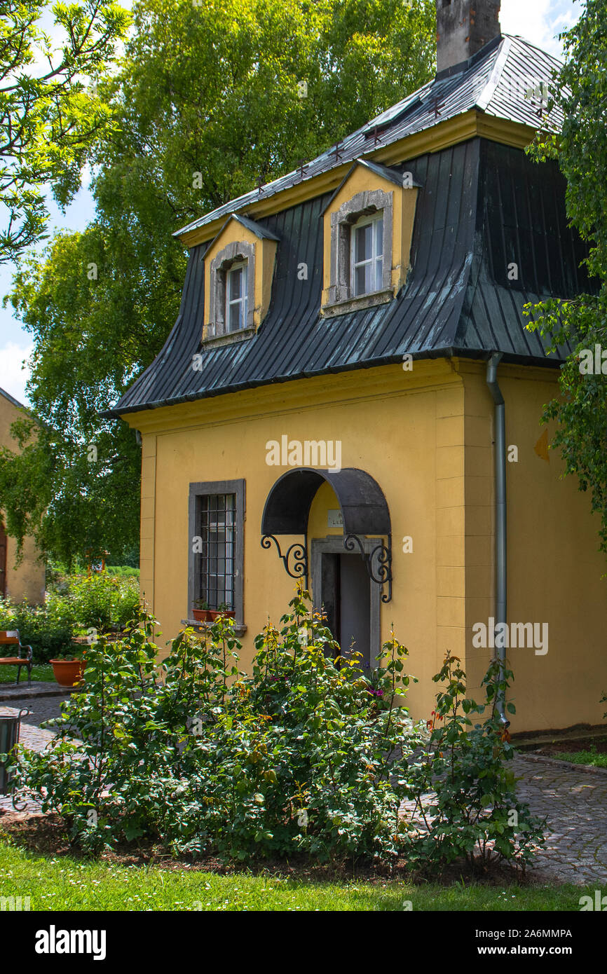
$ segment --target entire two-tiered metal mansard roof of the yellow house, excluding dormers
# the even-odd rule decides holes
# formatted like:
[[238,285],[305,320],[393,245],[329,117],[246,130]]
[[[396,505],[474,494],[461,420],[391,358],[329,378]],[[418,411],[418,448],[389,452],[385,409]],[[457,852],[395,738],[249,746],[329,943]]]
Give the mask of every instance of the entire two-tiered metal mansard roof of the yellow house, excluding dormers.
[[[496,38],[344,139],[339,153],[333,147],[310,163],[303,183],[341,168],[339,179],[330,185],[325,181],[315,193],[313,181],[294,205],[287,192],[284,206],[279,196],[269,211],[260,213],[252,206],[260,193],[263,199],[302,181],[300,170],[287,173],[178,231],[180,236],[194,230],[197,238],[190,248],[178,318],[160,354],[106,415],[395,363],[404,355],[478,358],[497,351],[506,361],[557,365],[569,350],[549,356],[548,342],[526,330],[523,306],[588,290],[591,285],[580,267],[588,251],[568,225],[558,167],[552,162],[536,165],[521,147],[539,127],[540,116],[554,130],[562,121],[554,111],[547,120],[546,102],[538,99],[538,89],[550,83],[558,65],[519,37]],[[420,148],[417,142],[407,158],[407,146],[416,142],[407,136],[436,131],[445,119],[466,113],[501,120],[504,137],[485,137],[474,126],[472,134],[458,132],[446,144],[433,141]],[[382,160],[387,160],[390,143],[401,145],[395,144],[388,170]],[[322,212],[348,174],[344,163],[365,165],[382,175],[389,171],[395,180],[403,172],[412,173],[421,188],[411,267],[394,300],[324,318]],[[254,223],[243,210],[254,213]],[[204,254],[231,215],[254,232],[279,240],[272,299],[254,336],[205,346]],[[214,226],[205,235],[207,224]],[[302,264],[309,269],[305,280],[297,274]],[[202,360],[194,369],[193,356],[199,353]]]

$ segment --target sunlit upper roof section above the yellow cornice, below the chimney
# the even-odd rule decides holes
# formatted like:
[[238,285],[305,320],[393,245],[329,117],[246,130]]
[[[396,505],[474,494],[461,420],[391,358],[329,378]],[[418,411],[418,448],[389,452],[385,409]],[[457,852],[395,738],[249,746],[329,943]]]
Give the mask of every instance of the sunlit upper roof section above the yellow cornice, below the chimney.
[[[485,45],[469,61],[458,65],[448,74],[442,72],[419,91],[407,95],[398,104],[382,112],[343,142],[312,160],[302,172],[295,169],[280,179],[266,183],[260,189],[218,206],[173,235],[179,237],[203,227],[218,217],[268,199],[276,193],[305,182],[313,176],[343,166],[367,153],[377,152],[406,135],[434,128],[447,119],[455,118],[473,108],[495,118],[519,122],[534,129],[539,126],[540,100],[534,92],[542,84],[550,84],[560,61],[529,44],[520,37],[503,35],[495,43]],[[546,109],[546,101],[544,101]],[[544,125],[557,131],[562,124],[560,110],[554,108]]]

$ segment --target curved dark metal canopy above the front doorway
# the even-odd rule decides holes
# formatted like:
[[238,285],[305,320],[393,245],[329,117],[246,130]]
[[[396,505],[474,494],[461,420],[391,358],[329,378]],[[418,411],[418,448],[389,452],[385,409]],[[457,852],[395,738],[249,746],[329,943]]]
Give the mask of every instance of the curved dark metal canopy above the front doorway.
[[261,518],[262,535],[301,535],[308,530],[310,506],[322,484],[339,501],[346,535],[390,535],[390,511],[376,480],[365,470],[300,467],[279,477],[268,494]]

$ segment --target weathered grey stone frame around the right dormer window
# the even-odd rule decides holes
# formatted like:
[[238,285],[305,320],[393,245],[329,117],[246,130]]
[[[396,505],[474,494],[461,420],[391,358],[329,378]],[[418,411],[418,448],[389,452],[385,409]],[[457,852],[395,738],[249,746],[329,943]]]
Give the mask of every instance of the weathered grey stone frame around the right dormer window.
[[[350,274],[351,229],[361,216],[383,212],[384,245],[382,253],[382,287],[354,297]],[[322,308],[325,315],[344,314],[359,308],[383,304],[394,297],[392,290],[392,233],[394,193],[382,189],[363,190],[330,213],[331,266],[328,301]]]

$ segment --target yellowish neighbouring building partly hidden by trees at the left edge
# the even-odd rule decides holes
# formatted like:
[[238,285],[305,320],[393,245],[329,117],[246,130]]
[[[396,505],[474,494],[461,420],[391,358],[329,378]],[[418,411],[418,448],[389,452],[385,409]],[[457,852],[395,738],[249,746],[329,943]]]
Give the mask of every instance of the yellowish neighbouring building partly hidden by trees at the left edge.
[[[23,409],[17,399],[0,389],[0,445],[13,451],[17,449],[17,443],[11,435],[11,427]],[[25,538],[18,564],[17,541],[7,535],[0,511],[0,596],[34,605],[44,602],[45,567],[38,556],[33,539]]]

